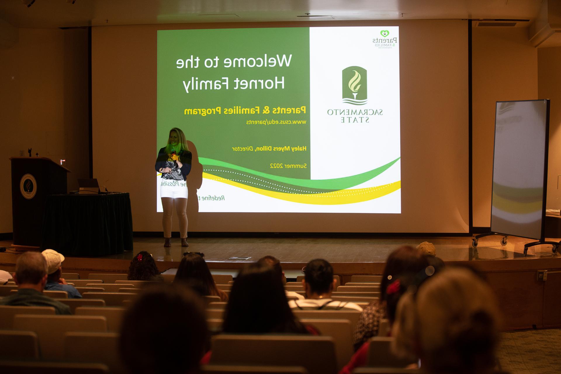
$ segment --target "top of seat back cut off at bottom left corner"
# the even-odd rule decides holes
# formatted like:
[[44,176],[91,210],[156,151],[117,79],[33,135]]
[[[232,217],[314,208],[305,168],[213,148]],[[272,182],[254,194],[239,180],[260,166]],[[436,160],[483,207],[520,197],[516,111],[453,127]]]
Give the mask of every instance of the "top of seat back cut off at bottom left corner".
[[109,374],[107,365],[100,363],[0,361],[2,373],[25,374]]

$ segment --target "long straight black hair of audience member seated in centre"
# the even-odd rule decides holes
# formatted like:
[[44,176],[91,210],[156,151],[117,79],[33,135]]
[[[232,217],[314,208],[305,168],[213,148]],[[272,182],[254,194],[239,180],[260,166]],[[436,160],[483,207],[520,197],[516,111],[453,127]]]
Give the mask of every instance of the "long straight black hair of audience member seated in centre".
[[306,333],[288,306],[273,267],[260,262],[240,270],[228,299],[224,333]]

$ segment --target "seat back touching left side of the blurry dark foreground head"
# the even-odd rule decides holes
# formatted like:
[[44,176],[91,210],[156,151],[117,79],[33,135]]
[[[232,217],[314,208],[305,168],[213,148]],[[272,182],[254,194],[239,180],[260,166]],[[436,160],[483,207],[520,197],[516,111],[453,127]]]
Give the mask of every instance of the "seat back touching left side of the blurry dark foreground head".
[[70,331],[65,334],[64,358],[66,361],[103,363],[112,374],[125,372],[119,358],[117,333]]

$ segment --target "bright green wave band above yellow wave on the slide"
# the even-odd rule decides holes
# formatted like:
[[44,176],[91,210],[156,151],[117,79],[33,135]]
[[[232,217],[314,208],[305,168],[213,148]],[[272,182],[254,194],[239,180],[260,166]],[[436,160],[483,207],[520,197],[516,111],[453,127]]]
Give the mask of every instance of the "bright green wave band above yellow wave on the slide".
[[356,174],[356,176],[334,178],[334,179],[301,179],[301,178],[279,177],[279,176],[274,176],[273,174],[258,172],[257,170],[251,170],[224,161],[209,159],[205,157],[199,157],[199,162],[203,164],[203,168],[210,166],[210,167],[233,169],[233,170],[238,170],[239,172],[253,174],[254,176],[267,178],[272,181],[291,184],[293,186],[314,188],[318,190],[344,190],[346,188],[357,186],[358,184],[364,183],[376,176],[379,176],[381,173],[385,172],[385,170],[387,170],[389,167],[395,164],[400,158],[401,157],[398,157],[397,159],[390,161],[389,163],[382,165],[379,168],[369,170],[368,172],[364,172],[361,174]]

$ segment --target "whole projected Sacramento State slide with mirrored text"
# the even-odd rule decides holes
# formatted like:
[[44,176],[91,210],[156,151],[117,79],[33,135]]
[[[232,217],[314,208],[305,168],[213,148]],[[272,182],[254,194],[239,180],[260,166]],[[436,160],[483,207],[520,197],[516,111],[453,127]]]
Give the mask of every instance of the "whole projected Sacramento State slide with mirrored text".
[[199,211],[401,213],[398,27],[159,30],[157,72]]

